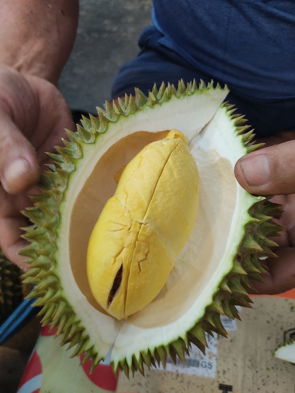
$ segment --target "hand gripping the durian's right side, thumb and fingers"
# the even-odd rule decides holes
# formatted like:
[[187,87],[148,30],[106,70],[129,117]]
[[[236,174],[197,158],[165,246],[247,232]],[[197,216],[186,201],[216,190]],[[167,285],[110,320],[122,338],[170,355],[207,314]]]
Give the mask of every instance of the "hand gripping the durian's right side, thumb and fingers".
[[286,229],[273,240],[278,258],[267,258],[269,275],[264,283],[252,282],[260,294],[278,294],[295,288],[295,131],[282,132],[259,140],[266,147],[247,154],[235,166],[236,179],[250,193],[276,195],[271,199],[282,205],[283,212],[274,219]]

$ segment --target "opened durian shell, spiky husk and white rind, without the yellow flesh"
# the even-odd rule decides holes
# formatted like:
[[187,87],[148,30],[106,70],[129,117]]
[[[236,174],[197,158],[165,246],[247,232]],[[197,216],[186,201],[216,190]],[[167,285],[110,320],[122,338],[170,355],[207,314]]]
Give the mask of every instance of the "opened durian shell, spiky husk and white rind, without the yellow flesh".
[[[91,358],[92,370],[111,347],[114,369],[127,375],[144,373],[144,364],[165,366],[167,356],[184,360],[191,344],[205,351],[205,332],[226,336],[220,314],[239,318],[236,305],[251,307],[249,280],[261,280],[267,270],[260,258],[274,255],[269,237],[281,228],[271,218],[280,208],[247,193],[234,177],[236,161],[260,145],[243,116],[223,103],[227,94],[227,87],[197,87],[195,81],[180,81],[177,89],[154,86],[148,97],[136,89],[135,99],[126,95],[118,105],[98,108],[99,119],[83,118],[83,127],[68,131],[70,141],[56,148],[59,154],[49,154],[54,164],[42,177],[42,193],[24,211],[33,222],[24,228],[31,242],[21,252],[31,264],[24,282],[36,284],[29,297],[43,306],[43,325],[58,325],[61,344],[74,348],[72,356],[85,352],[83,362]],[[160,293],[118,320],[90,290],[90,235],[122,168],[173,129],[183,133],[197,165],[197,219]],[[166,208],[176,216],[172,230],[178,233],[181,220],[173,206]],[[103,247],[103,236],[101,242]]]

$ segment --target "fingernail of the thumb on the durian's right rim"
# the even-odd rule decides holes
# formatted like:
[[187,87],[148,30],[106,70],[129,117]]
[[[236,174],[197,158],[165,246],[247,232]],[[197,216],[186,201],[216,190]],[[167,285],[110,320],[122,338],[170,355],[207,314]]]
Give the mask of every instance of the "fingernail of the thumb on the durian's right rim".
[[267,156],[246,157],[241,163],[241,169],[249,185],[264,185],[270,181],[270,169]]

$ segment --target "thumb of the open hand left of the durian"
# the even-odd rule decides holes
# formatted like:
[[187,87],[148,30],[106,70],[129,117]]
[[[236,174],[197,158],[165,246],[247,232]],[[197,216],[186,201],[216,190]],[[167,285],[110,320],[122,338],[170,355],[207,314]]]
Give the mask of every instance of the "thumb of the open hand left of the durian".
[[10,194],[26,190],[39,178],[35,149],[26,138],[35,128],[38,103],[28,82],[0,68],[0,181]]

